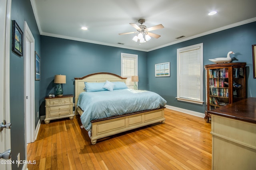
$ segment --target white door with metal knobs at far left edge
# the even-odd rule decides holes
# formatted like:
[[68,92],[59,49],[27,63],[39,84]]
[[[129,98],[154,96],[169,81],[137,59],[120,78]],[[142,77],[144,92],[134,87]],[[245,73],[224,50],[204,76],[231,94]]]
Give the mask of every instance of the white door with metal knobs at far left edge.
[[[10,124],[4,127],[4,124],[10,123],[10,90],[9,90],[9,69],[10,69],[10,7],[11,2],[0,0],[0,169],[11,169],[10,161]],[[8,14],[8,15],[6,15]],[[7,29],[6,29],[7,28]],[[5,159],[7,160],[5,160]],[[8,160],[9,158],[9,160]],[[4,162],[6,161],[6,162]],[[6,163],[6,164],[5,164]]]

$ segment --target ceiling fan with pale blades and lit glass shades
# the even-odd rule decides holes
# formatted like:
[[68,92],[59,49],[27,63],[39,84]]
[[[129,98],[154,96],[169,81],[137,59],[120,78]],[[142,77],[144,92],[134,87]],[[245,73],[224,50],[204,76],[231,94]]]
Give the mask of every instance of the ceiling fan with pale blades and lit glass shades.
[[137,25],[136,23],[130,23],[130,25],[132,25],[135,29],[137,29],[137,31],[129,32],[129,33],[119,33],[119,35],[138,33],[138,35],[134,36],[132,40],[137,42],[139,39],[140,43],[145,43],[146,41],[149,41],[151,39],[151,37],[159,38],[161,36],[161,35],[158,35],[155,33],[151,33],[149,31],[164,28],[164,26],[162,24],[147,28],[145,25],[142,25],[145,22],[144,19],[140,19],[140,20],[138,20],[138,22],[141,25]]

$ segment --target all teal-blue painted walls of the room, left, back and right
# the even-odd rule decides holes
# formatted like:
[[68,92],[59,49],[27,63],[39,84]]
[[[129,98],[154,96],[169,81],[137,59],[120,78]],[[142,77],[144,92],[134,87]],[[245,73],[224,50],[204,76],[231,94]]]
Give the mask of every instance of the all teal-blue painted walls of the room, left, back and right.
[[[35,50],[41,57],[41,80],[35,81],[35,125],[38,122],[39,107],[44,108],[44,97],[55,92],[56,84],[53,83],[55,74],[66,75],[66,84],[63,84],[64,93],[74,94],[74,77],[82,77],[94,72],[112,72],[120,75],[121,53],[138,55],[140,89],[157,92],[167,100],[170,106],[204,113],[205,105],[178,102],[175,98],[177,95],[176,49],[197,43],[204,43],[204,65],[212,64],[208,59],[226,57],[228,51],[234,51],[239,62],[247,63],[247,97],[256,97],[256,79],[253,79],[252,68],[252,45],[256,44],[256,22],[147,53],[40,36],[30,0],[12,0],[11,20],[16,20],[23,32],[24,21],[28,23],[35,39]],[[165,62],[170,62],[171,76],[156,78],[154,64]],[[10,119],[12,122],[10,130],[14,161],[18,153],[20,153],[20,160],[25,160],[24,98],[24,57],[18,57],[10,50]],[[45,115],[45,112],[40,110],[40,115]],[[22,166],[17,168],[16,164],[12,165],[13,170],[21,168]]]

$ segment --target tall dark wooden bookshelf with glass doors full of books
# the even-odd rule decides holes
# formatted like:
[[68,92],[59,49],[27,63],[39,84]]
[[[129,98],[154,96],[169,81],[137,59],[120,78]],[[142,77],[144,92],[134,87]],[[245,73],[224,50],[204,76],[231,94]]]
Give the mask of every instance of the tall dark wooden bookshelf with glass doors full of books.
[[246,63],[221,63],[205,65],[207,81],[207,110],[205,118],[209,122],[208,111],[246,98]]

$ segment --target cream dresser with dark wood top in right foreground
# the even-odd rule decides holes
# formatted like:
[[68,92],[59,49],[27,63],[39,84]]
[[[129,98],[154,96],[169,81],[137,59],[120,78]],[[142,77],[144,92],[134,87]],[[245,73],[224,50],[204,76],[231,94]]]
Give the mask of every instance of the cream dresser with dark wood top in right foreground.
[[212,114],[212,169],[256,170],[256,98],[208,112]]

